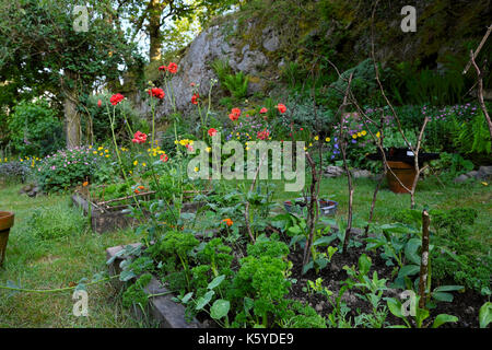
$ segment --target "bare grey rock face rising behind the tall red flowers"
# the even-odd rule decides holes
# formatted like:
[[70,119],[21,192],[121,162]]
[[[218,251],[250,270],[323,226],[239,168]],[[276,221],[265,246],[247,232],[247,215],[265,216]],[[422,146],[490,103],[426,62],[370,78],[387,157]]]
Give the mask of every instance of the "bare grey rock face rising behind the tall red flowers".
[[[249,82],[249,94],[262,89],[265,81],[259,74],[269,63],[262,49],[266,51],[277,50],[280,46],[279,36],[272,30],[263,31],[260,38],[262,49],[253,48],[249,44],[242,45],[233,35],[230,35],[231,31],[233,33],[236,31],[236,26],[235,22],[232,22],[232,28],[224,24],[211,26],[200,33],[189,45],[186,55],[178,62],[178,73],[171,80],[178,110],[186,112],[192,108],[190,104],[191,83],[198,85],[201,96],[208,95],[210,81],[218,79],[211,68],[211,63],[215,59],[226,60],[234,72],[242,71],[254,78]],[[157,110],[157,117],[172,112],[171,106],[165,104]]]

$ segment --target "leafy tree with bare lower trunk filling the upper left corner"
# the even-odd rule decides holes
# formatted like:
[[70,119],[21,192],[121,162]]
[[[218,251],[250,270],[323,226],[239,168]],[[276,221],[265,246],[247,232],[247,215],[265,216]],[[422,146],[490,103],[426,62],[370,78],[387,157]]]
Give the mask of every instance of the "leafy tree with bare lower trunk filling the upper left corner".
[[68,0],[0,0],[0,103],[46,93],[63,107],[67,147],[81,143],[78,104],[97,83],[118,81],[142,65],[136,47],[112,21],[109,1],[84,1],[86,32],[74,30],[74,4]]

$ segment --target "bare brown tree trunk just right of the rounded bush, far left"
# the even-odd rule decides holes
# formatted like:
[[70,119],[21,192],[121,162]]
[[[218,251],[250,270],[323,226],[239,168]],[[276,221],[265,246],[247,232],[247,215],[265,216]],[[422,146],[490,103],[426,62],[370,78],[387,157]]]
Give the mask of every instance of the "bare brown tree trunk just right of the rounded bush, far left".
[[63,81],[63,112],[67,132],[67,148],[74,148],[80,145],[80,115],[77,112],[77,89],[75,79],[77,73],[72,70],[66,69]]

